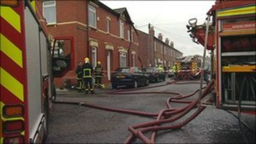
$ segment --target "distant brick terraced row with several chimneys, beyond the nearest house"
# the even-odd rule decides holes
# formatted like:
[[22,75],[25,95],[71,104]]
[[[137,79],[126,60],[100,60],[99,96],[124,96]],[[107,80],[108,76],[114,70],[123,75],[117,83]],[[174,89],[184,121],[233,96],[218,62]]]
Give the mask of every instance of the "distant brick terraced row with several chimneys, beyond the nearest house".
[[168,38],[163,41],[162,34],[155,37],[153,27],[150,27],[149,34],[138,30],[139,33],[139,58],[142,59],[143,67],[149,64],[153,66],[172,66],[176,57],[181,57],[183,53],[174,48],[174,42]]

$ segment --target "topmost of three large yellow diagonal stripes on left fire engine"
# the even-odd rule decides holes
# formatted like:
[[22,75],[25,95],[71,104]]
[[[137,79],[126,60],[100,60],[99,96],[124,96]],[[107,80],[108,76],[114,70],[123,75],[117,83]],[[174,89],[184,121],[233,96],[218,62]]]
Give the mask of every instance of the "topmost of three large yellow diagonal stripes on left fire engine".
[[21,17],[11,7],[0,7],[0,16],[21,33]]

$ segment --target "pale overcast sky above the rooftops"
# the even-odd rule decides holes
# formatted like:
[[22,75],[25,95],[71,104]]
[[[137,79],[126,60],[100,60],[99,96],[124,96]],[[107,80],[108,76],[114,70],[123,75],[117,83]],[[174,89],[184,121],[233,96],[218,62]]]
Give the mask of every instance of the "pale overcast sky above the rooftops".
[[[148,24],[155,27],[155,36],[163,34],[163,40],[174,41],[174,48],[183,55],[203,55],[203,46],[192,42],[186,25],[190,18],[197,18],[197,24],[203,24],[206,13],[214,5],[214,0],[206,1],[123,1],[101,0],[111,9],[126,7],[135,28],[148,33]],[[207,53],[208,54],[208,53]]]

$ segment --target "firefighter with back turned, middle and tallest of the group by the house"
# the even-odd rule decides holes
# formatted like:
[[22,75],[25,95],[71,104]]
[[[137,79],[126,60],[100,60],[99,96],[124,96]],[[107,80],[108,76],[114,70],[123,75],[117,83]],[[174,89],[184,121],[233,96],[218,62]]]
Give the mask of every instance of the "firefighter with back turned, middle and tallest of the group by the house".
[[[85,58],[85,64],[82,66],[83,69],[83,79],[84,79],[84,85],[85,85],[85,93],[88,94],[88,91],[91,91],[91,94],[94,94],[94,87],[92,85],[92,74],[93,74],[93,68],[89,62],[89,58]],[[88,87],[89,85],[89,87]]]

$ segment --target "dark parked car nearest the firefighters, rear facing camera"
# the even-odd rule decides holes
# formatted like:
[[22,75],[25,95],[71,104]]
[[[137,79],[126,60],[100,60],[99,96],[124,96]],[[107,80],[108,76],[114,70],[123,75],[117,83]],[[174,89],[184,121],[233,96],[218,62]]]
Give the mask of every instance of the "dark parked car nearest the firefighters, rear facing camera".
[[123,85],[137,88],[138,86],[149,85],[149,78],[137,67],[126,67],[117,69],[111,75],[111,83],[113,89]]

